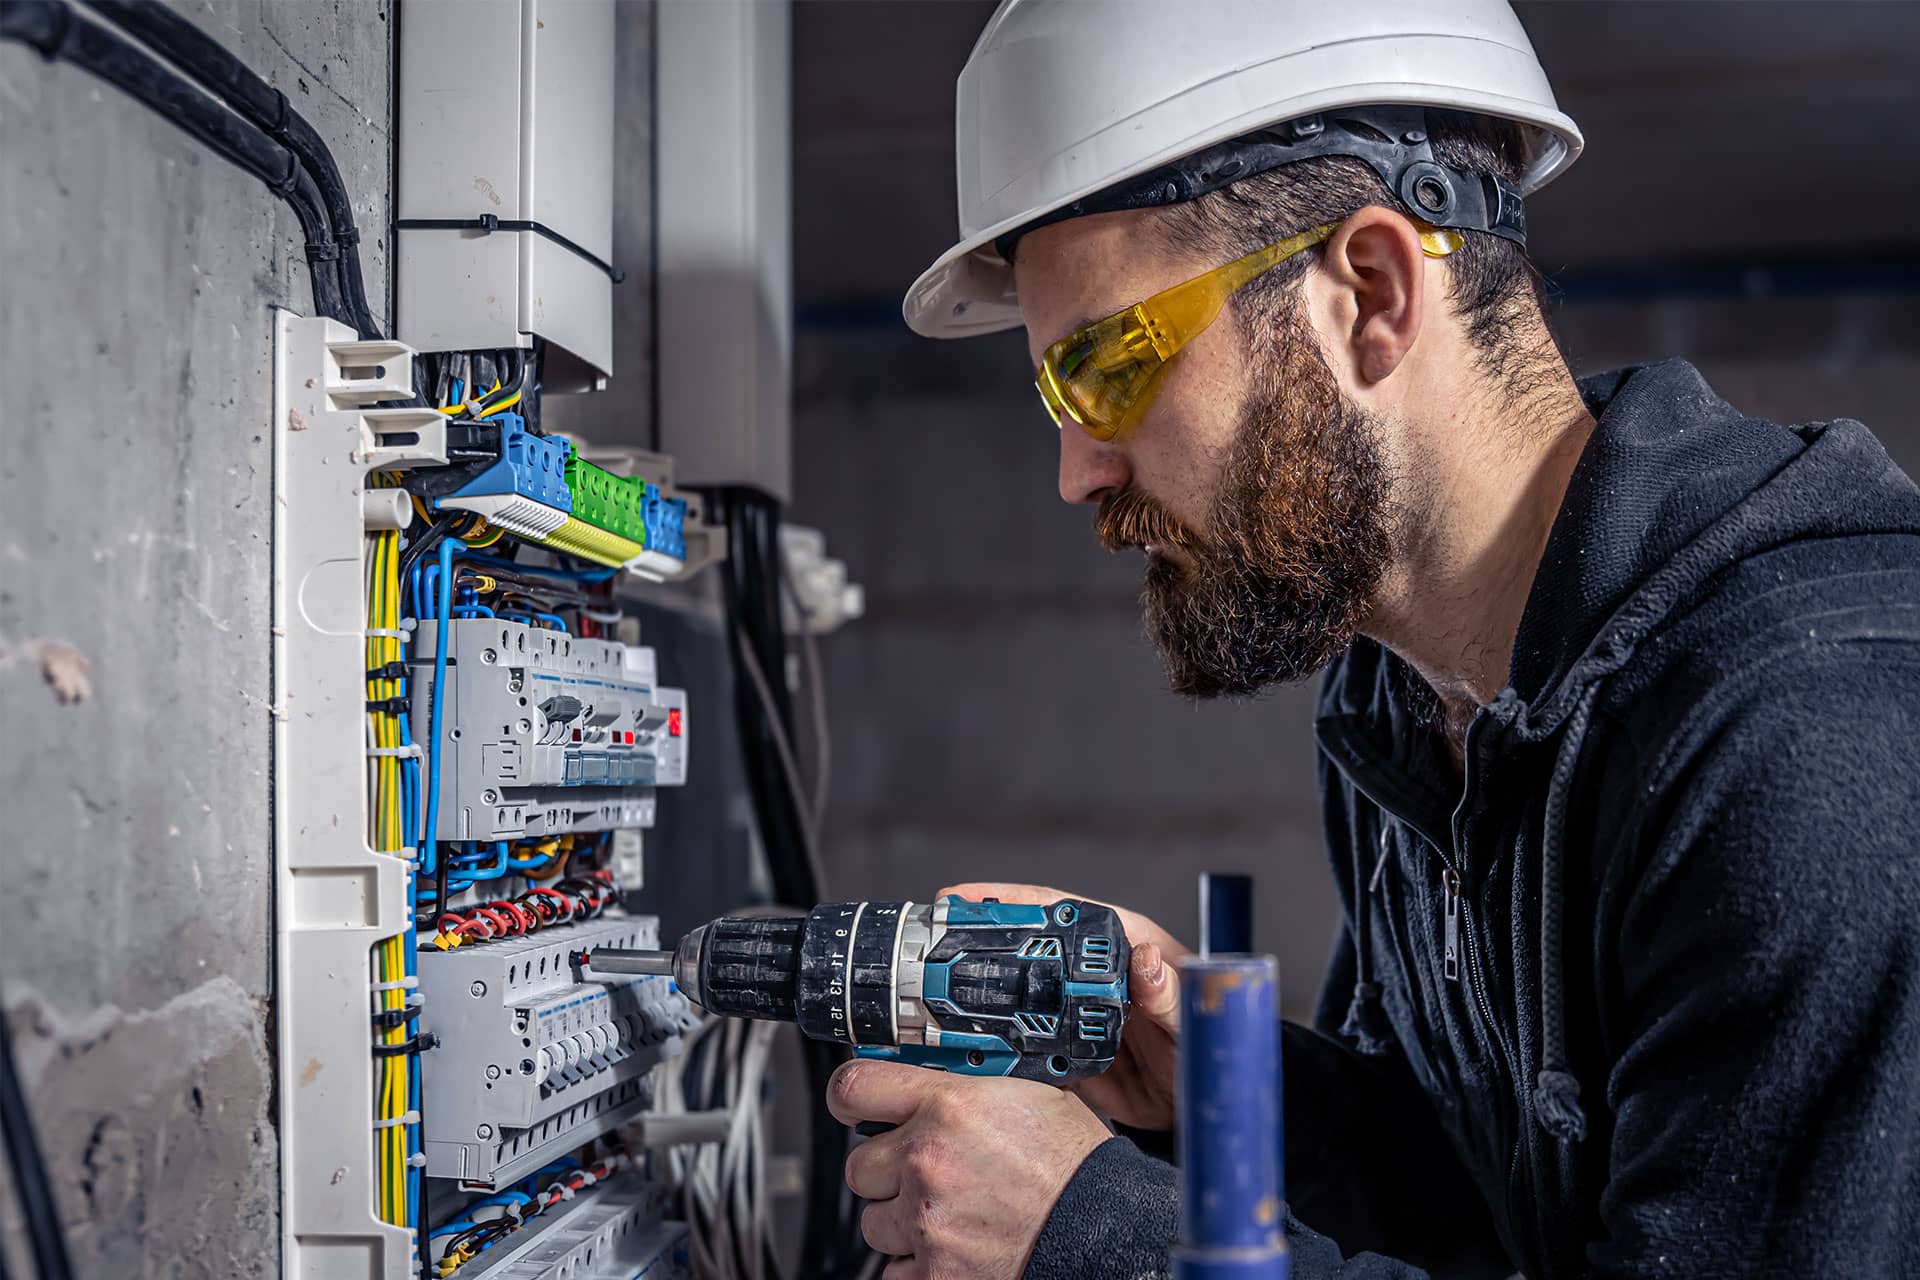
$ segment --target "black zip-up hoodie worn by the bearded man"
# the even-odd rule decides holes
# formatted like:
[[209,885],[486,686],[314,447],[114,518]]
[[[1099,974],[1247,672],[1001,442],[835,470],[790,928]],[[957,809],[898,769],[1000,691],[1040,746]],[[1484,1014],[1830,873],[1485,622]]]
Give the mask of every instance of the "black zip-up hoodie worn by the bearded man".
[[[1680,361],[1582,393],[1465,779],[1400,658],[1327,674],[1292,1274],[1916,1276],[1920,491]],[[1108,1142],[1027,1274],[1160,1274],[1175,1176]]]

